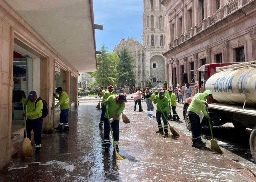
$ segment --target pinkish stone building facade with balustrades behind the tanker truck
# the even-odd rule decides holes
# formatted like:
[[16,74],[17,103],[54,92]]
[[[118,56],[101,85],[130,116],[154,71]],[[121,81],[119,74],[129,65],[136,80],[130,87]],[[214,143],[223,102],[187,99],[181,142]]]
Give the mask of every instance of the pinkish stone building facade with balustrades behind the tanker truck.
[[[168,83],[204,64],[256,60],[255,0],[162,0],[167,14]],[[174,59],[173,70],[170,58]],[[189,72],[192,80],[193,72]],[[198,75],[195,76],[195,83]]]

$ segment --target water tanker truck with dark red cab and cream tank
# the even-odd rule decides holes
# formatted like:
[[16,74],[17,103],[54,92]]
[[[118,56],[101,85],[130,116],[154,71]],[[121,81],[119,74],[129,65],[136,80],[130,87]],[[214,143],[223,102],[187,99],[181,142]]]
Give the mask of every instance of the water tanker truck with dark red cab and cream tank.
[[[211,90],[213,99],[207,100],[212,126],[233,123],[237,130],[251,128],[250,150],[256,162],[256,61],[246,63],[212,63],[195,70],[199,74],[200,92]],[[184,73],[184,81],[187,81]],[[186,82],[185,82],[186,83]],[[183,115],[188,130],[191,124],[187,109],[193,97],[187,98]],[[202,127],[208,120],[200,115]]]

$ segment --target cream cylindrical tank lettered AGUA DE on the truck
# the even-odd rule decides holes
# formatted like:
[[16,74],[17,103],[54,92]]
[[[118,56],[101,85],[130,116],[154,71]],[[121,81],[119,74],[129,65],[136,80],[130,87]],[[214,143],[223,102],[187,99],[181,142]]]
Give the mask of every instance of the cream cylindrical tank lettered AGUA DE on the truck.
[[223,70],[212,75],[206,82],[219,103],[256,104],[256,68]]

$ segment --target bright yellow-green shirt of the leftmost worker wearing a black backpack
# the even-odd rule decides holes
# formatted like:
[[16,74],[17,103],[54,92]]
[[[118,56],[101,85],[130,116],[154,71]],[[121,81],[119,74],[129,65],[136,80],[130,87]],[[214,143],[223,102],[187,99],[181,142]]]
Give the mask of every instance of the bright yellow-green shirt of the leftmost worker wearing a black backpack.
[[[37,99],[39,97],[37,96]],[[35,106],[35,102],[31,102],[29,99],[22,99],[20,102],[23,104],[27,104],[27,119],[37,119],[40,118],[42,114],[42,109],[43,109],[43,102],[42,100],[38,100],[37,105]]]

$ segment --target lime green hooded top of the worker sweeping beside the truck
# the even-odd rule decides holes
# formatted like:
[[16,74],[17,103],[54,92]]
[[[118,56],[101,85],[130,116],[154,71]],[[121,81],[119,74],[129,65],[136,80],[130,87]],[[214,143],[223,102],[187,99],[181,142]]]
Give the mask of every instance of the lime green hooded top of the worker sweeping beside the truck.
[[210,90],[204,91],[203,94],[197,93],[193,97],[191,104],[188,106],[187,111],[195,112],[197,115],[199,115],[200,111],[202,111],[204,116],[207,117],[208,114],[206,112],[205,103],[206,103],[206,96],[209,94],[212,95],[212,92]]

